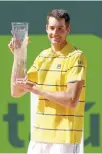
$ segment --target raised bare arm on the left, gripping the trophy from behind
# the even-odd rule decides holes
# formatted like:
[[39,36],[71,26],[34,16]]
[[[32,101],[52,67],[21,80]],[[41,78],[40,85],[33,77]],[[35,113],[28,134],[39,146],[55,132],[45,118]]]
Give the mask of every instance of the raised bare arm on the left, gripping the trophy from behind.
[[[12,67],[12,73],[11,73],[11,95],[13,97],[20,97],[24,95],[26,92],[24,92],[24,88],[22,84],[18,84],[16,82],[17,78],[21,79],[27,79],[25,78],[26,74],[24,68],[26,68],[26,49],[27,44],[29,42],[29,38],[25,38],[25,40],[22,43],[21,48],[15,49],[14,53],[14,61],[13,61],[13,67]],[[8,44],[8,47],[10,51],[14,52],[14,39],[12,38],[10,43]]]

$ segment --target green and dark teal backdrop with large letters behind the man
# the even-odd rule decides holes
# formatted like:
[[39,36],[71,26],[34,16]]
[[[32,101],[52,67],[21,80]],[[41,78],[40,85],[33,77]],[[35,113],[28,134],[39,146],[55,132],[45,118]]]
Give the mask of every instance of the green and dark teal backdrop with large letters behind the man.
[[29,22],[29,68],[35,57],[50,46],[46,16],[54,8],[68,10],[68,40],[87,57],[84,123],[86,153],[102,153],[102,2],[98,1],[0,1],[0,153],[26,153],[30,139],[30,95],[12,98],[10,76],[13,55],[8,49],[11,22]]

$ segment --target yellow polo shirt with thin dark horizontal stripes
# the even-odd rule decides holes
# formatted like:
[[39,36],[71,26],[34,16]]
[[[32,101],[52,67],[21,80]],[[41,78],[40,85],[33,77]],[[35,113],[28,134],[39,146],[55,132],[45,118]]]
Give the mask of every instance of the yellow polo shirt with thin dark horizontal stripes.
[[[86,80],[86,58],[82,51],[69,42],[56,53],[51,48],[41,52],[28,71],[28,79],[39,88],[60,92],[67,90],[67,84]],[[32,140],[47,143],[80,143],[84,122],[85,86],[75,109],[39,96],[36,124]]]

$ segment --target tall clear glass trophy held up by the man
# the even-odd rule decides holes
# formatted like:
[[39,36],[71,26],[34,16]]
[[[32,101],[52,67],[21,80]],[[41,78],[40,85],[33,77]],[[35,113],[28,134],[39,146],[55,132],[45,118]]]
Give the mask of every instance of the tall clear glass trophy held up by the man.
[[12,22],[14,56],[16,59],[15,77],[24,79],[26,76],[28,23]]

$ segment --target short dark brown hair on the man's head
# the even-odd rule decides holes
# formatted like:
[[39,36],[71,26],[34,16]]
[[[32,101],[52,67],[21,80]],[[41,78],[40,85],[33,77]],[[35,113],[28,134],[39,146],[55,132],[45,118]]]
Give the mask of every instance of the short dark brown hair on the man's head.
[[47,15],[47,24],[49,22],[49,18],[54,17],[57,20],[65,19],[65,23],[68,26],[70,24],[70,16],[66,10],[63,9],[54,9]]

